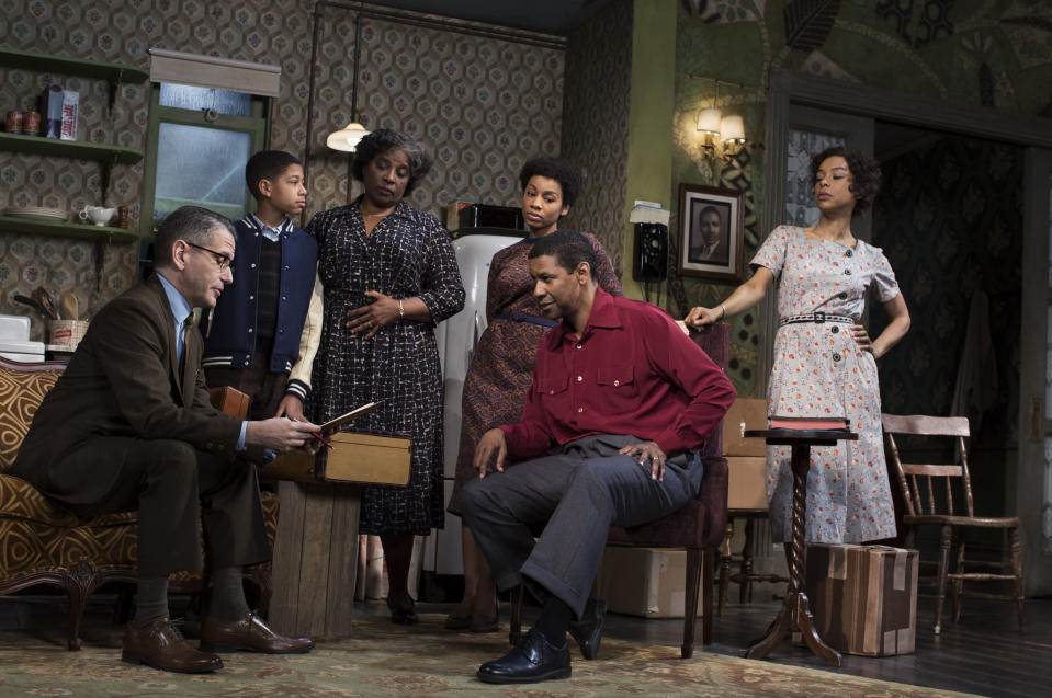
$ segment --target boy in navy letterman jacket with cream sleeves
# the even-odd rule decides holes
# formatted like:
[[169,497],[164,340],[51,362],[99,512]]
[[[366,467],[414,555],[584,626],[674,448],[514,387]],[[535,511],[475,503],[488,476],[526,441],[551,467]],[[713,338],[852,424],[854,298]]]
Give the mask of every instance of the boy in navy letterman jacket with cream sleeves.
[[201,320],[205,380],[251,398],[250,420],[303,420],[321,335],[318,243],[292,222],[306,206],[303,163],[263,150],[245,165],[257,210],[234,224],[234,283]]

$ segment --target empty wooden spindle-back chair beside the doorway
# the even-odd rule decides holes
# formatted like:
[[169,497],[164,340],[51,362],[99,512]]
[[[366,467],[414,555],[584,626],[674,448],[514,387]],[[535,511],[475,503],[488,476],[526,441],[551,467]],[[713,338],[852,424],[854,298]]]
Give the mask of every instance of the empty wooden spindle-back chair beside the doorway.
[[[884,435],[887,437],[887,455],[894,464],[903,499],[906,502],[906,515],[903,516],[903,525],[906,527],[906,547],[916,548],[918,526],[934,525],[941,529],[936,575],[920,579],[921,582],[936,585],[935,633],[939,634],[942,630],[942,606],[948,581],[953,583],[951,594],[954,622],[961,617],[961,597],[965,595],[964,582],[1011,582],[1013,595],[979,592],[968,592],[966,595],[1015,600],[1021,628],[1023,595],[1019,519],[1015,516],[975,515],[972,507],[972,482],[968,471],[968,450],[964,444],[964,439],[969,437],[968,417],[882,414],[881,422]],[[953,465],[904,464],[900,457],[895,435],[952,437],[955,439],[957,462]],[[960,482],[963,492],[963,506],[958,506],[953,499],[955,482]],[[925,490],[924,493],[921,489]],[[940,490],[940,494],[936,494],[936,490]],[[959,513],[958,510],[963,511]],[[1008,563],[965,561],[963,531],[968,528],[1006,529],[1010,542]],[[954,542],[955,562],[951,572],[950,549],[954,547]]]

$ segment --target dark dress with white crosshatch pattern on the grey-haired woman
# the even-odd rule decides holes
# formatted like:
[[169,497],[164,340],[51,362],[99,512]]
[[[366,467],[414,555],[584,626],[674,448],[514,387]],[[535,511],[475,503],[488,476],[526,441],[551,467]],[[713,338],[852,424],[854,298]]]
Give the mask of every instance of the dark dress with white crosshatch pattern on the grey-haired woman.
[[325,289],[321,344],[310,381],[314,421],[384,400],[352,428],[408,435],[409,485],[366,488],[360,533],[426,536],[444,520],[444,397],[434,325],[396,321],[366,340],[365,333],[353,333],[344,324],[348,310],[371,302],[366,290],[396,299],[417,296],[434,323],[459,312],[464,285],[449,232],[433,216],[405,202],[371,234],[365,234],[358,202],[316,215],[307,232],[318,239],[318,275]]

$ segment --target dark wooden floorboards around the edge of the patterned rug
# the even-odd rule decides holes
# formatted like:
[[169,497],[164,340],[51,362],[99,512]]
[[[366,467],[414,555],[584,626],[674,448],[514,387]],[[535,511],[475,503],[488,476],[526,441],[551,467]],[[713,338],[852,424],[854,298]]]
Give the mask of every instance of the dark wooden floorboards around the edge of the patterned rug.
[[[736,598],[736,595],[732,594]],[[112,596],[99,594],[89,603],[83,634],[92,627],[112,622]],[[174,600],[173,611],[181,613]],[[728,603],[713,621],[712,645],[697,645],[694,659],[704,661],[705,652],[742,656],[745,648],[763,634],[778,613],[780,602]],[[420,604],[421,613],[446,613],[449,604]],[[827,666],[803,648],[782,642],[765,662],[829,671],[917,686],[979,694],[995,698],[1031,698],[1052,695],[1052,599],[1027,602],[1027,626],[1019,630],[1015,610],[1004,602],[969,599],[966,616],[960,623],[943,621],[941,637],[931,631],[932,605],[921,600],[914,654],[886,657],[845,655],[840,667]],[[501,632],[507,632],[508,605],[501,605]],[[0,598],[0,633],[16,637],[19,629],[42,626],[66,627],[66,603],[61,596],[13,596]],[[355,604],[354,615],[386,615],[383,602]],[[524,610],[529,623],[536,609]],[[700,621],[699,621],[700,622]],[[609,614],[604,634],[632,642],[661,644],[678,656],[682,639],[681,619],[644,619]],[[699,630],[700,640],[700,630]],[[600,652],[600,659],[602,654]],[[496,657],[479,657],[479,663]],[[578,655],[574,661],[582,661]]]

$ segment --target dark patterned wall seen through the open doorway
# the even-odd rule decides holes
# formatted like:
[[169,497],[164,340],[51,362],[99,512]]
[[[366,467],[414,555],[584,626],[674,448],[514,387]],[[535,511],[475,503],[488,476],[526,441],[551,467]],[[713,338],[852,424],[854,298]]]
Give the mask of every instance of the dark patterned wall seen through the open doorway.
[[[895,270],[913,319],[902,344],[881,359],[889,412],[949,414],[972,294],[982,289],[989,298],[1000,394],[999,408],[988,411],[973,440],[1015,439],[1022,161],[1020,147],[948,136],[883,163],[873,244]],[[876,306],[873,333],[886,324]]]

